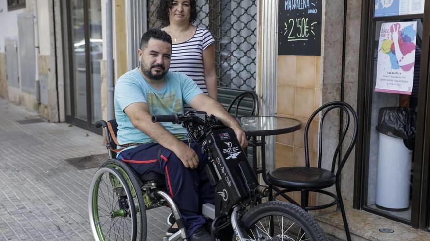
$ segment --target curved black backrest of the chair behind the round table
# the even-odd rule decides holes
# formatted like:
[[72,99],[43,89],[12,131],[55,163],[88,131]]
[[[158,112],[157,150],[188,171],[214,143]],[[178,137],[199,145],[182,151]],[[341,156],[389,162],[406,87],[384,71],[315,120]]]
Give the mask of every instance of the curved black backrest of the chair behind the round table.
[[[242,105],[240,105],[240,103],[242,103]],[[249,103],[252,104],[251,108],[249,108]],[[260,103],[258,101],[258,96],[252,91],[243,91],[232,100],[230,105],[227,107],[227,112],[230,113],[233,107],[235,107],[235,117],[258,116],[260,111]]]

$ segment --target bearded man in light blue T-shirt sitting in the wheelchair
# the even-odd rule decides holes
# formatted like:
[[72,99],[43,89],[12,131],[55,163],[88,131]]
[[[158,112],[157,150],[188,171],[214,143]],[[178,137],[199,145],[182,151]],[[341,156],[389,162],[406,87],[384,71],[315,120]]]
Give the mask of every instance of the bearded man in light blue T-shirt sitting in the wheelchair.
[[215,115],[237,135],[242,148],[245,133],[221,104],[204,94],[194,81],[169,71],[172,38],[159,29],[143,34],[138,49],[140,67],[123,74],[115,86],[117,140],[124,148],[117,156],[139,175],[165,175],[167,191],[184,219],[189,240],[210,240],[200,207],[214,203],[214,189],[204,171],[208,157],[194,143],[187,143],[184,127],[151,121],[152,115],[183,113],[188,104]]

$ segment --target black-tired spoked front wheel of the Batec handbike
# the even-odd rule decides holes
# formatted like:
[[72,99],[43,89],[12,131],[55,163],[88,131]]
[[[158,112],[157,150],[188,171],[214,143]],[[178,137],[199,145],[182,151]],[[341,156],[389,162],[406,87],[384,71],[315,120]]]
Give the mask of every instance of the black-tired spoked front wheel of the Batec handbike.
[[241,221],[245,236],[255,241],[325,241],[315,219],[290,203],[259,204],[246,212]]

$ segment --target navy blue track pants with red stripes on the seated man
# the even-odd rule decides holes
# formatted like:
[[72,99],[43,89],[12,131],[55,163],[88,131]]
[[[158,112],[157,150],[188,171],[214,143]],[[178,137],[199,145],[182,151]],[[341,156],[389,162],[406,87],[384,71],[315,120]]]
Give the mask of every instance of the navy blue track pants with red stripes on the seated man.
[[[161,149],[160,149],[161,148]],[[169,149],[158,143],[148,143],[122,151],[118,159],[128,163],[139,175],[158,172],[165,175],[166,187],[187,225],[188,235],[205,224],[201,214],[204,203],[214,203],[214,188],[210,185],[204,167],[208,156],[193,143],[200,163],[196,169],[186,168],[182,161]]]

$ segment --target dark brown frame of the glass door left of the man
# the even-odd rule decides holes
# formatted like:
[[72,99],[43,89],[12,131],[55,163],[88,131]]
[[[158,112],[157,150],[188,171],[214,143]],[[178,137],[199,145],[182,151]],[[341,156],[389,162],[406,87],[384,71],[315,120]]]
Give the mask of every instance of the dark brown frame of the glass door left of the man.
[[[85,68],[86,68],[86,115],[87,121],[75,118],[75,89],[74,89],[74,69],[73,69],[73,44],[72,44],[72,2],[71,1],[60,1],[62,14],[62,26],[65,27],[65,31],[63,34],[63,63],[64,69],[68,71],[64,71],[64,79],[69,80],[69,96],[70,99],[67,99],[67,94],[64,94],[65,106],[70,105],[70,115],[65,111],[65,121],[67,123],[76,125],[83,129],[89,130],[91,132],[102,134],[102,130],[95,127],[92,123],[92,78],[91,78],[91,54],[90,54],[90,33],[89,33],[89,3],[88,0],[83,0],[84,3],[84,41],[85,41]],[[66,93],[66,81],[64,81],[64,93]],[[100,107],[101,108],[101,107]]]

